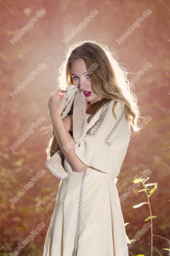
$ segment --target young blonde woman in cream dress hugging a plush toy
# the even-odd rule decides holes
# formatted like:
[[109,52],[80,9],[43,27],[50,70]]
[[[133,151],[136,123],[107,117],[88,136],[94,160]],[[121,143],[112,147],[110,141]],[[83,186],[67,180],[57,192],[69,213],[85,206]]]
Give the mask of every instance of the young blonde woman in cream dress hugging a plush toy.
[[115,185],[128,148],[120,145],[129,142],[131,126],[139,130],[137,100],[126,75],[107,46],[82,41],[69,48],[59,86],[83,91],[87,132],[73,140],[73,118],[61,118],[66,97],[57,98],[58,88],[49,98],[50,118],[58,149],[75,172],[60,181],[43,256],[129,255]]

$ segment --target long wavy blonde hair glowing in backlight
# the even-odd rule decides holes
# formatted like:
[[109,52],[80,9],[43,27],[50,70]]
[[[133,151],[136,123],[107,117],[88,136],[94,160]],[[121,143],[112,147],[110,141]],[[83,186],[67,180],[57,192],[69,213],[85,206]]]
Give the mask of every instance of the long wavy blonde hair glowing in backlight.
[[[125,118],[130,121],[133,130],[140,130],[138,127],[138,118],[140,111],[137,106],[137,97],[131,92],[131,84],[127,79],[127,71],[119,66],[117,55],[109,51],[107,45],[98,44],[95,41],[80,41],[69,47],[66,52],[66,60],[60,67],[58,87],[66,90],[66,87],[73,84],[70,75],[70,63],[79,58],[83,58],[86,69],[94,63],[98,67],[90,74],[92,91],[102,98],[114,100],[113,114],[117,102],[124,104]],[[117,58],[118,59],[118,58]],[[133,85],[132,85],[133,86]]]

